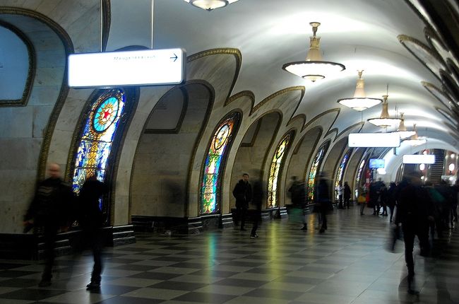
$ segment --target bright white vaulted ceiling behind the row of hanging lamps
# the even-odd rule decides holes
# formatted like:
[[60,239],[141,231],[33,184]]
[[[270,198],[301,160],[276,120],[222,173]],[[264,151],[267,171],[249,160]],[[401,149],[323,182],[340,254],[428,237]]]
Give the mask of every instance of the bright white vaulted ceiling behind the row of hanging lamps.
[[[427,81],[443,88],[441,77],[398,39],[407,35],[429,45],[426,25],[410,4],[418,5],[417,0],[239,0],[208,12],[183,0],[155,0],[153,46],[182,47],[189,55],[206,49],[237,48],[242,53],[242,66],[232,95],[249,90],[256,104],[283,88],[304,86],[306,94],[294,115],[306,115],[307,123],[340,107],[333,124],[338,132],[361,121],[365,122],[362,132],[384,131],[366,122],[380,115],[381,105],[356,112],[336,103],[352,96],[357,70],[364,69],[367,96],[381,98],[388,86],[391,115],[404,112],[408,129],[417,124],[419,135],[457,146],[457,121],[451,124],[436,110],[440,107],[452,113],[451,108],[422,86],[422,81]],[[312,21],[321,23],[317,35],[323,59],[346,66],[340,74],[316,83],[282,70],[287,62],[305,59]],[[117,33],[110,35],[116,37]]]

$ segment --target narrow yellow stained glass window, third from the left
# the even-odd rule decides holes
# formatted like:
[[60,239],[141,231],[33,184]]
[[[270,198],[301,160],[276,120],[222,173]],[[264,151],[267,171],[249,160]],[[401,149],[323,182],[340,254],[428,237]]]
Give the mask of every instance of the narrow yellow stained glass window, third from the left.
[[280,141],[278,148],[275,149],[268,178],[268,208],[273,208],[274,206],[278,205],[278,176],[280,173],[280,169],[282,168],[284,156],[287,154],[286,151],[292,137],[293,131],[285,135],[282,141]]

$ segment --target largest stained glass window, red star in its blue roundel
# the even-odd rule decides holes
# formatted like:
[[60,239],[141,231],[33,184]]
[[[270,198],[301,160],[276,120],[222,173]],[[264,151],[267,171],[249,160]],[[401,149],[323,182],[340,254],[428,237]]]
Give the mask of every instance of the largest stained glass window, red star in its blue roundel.
[[123,114],[125,94],[114,89],[103,93],[95,100],[83,125],[83,134],[76,151],[73,171],[73,192],[78,194],[87,177],[95,175],[105,180],[107,160],[114,136]]

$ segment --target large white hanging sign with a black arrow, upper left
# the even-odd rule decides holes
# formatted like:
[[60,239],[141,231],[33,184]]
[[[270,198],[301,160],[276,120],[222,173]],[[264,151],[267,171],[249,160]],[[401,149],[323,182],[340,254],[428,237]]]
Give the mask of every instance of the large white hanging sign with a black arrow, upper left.
[[185,80],[183,49],[145,49],[68,56],[68,86],[94,88],[179,84]]

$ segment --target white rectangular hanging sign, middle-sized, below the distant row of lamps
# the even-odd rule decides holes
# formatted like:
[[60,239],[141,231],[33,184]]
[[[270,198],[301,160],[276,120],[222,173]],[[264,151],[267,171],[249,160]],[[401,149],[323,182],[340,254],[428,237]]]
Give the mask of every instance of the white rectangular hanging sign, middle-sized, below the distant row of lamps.
[[400,146],[397,133],[351,133],[348,137],[350,147],[393,148]]

